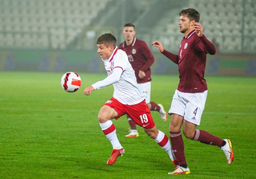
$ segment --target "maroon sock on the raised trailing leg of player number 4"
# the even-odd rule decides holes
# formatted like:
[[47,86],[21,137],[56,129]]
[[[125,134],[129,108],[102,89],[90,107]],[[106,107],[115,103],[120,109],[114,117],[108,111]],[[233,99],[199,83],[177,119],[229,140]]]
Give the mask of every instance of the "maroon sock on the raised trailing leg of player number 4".
[[212,135],[209,134],[208,132],[204,131],[204,130],[196,130],[193,140],[198,140],[201,143],[204,144],[208,144],[208,145],[212,145],[212,146],[218,146],[221,147],[222,146],[222,142],[223,140]]

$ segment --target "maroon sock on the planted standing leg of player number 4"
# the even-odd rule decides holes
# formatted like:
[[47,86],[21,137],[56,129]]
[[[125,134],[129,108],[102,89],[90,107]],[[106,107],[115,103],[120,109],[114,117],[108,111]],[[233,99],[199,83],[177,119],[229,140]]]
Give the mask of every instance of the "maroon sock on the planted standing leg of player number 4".
[[186,165],[186,157],[184,154],[184,143],[180,132],[170,132],[170,140],[172,151],[179,165]]

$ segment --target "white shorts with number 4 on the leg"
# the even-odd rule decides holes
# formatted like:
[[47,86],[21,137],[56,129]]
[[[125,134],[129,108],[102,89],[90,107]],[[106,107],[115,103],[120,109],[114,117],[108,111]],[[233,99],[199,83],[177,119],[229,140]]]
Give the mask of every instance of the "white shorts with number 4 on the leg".
[[175,90],[169,114],[174,113],[184,117],[184,120],[200,125],[208,90],[197,93],[187,93]]

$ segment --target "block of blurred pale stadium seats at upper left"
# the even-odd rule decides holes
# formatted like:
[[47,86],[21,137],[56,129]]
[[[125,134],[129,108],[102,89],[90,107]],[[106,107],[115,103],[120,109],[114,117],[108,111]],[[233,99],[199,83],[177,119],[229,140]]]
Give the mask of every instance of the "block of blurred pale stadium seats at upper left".
[[65,49],[110,0],[0,0],[0,48]]

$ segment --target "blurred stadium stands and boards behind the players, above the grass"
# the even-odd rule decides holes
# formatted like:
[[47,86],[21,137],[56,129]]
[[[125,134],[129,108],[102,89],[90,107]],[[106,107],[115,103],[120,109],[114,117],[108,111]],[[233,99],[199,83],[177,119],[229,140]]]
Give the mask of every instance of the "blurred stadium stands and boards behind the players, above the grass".
[[218,53],[207,75],[256,76],[256,0],[0,0],[0,71],[105,73],[96,39],[136,26],[156,59],[152,74],[178,74],[152,41],[177,53],[181,9],[195,8]]

